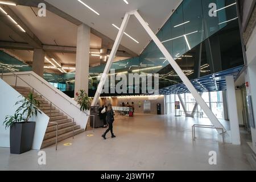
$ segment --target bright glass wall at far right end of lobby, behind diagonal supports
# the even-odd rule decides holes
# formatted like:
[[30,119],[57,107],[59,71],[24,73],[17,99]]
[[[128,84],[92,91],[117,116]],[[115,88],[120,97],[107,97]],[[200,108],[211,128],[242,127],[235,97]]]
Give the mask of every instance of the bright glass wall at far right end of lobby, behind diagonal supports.
[[[196,104],[195,98],[190,93],[184,93],[180,94],[184,105],[185,105],[185,111],[187,111],[188,114],[191,114],[194,106]],[[207,103],[207,105],[210,107],[210,109],[213,111],[213,113],[216,115],[218,119],[224,119],[224,106],[223,106],[223,97],[222,92],[204,92],[202,95],[202,98]],[[166,102],[166,114],[175,114],[175,101],[179,101],[179,97],[177,94],[171,94],[168,96],[165,96],[165,102]],[[185,112],[183,107],[180,106],[180,114],[182,116],[185,116]],[[195,117],[201,117],[201,113],[203,114],[204,118],[207,118],[207,115],[204,113],[204,111],[201,109],[200,106],[197,106],[197,109],[195,110]],[[177,113],[176,113],[177,114]]]

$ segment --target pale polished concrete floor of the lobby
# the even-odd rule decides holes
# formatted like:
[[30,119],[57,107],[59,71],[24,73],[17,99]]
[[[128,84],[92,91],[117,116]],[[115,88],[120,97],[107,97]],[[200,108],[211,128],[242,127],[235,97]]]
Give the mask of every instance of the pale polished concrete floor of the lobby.
[[[66,139],[44,148],[46,165],[38,164],[38,151],[9,154],[0,148],[1,170],[253,170],[246,155],[252,154],[242,137],[242,145],[216,142],[216,131],[197,130],[192,142],[191,126],[210,124],[207,119],[172,115],[136,114],[134,118],[117,117],[114,133],[101,138],[105,129],[86,131],[75,139]],[[228,123],[224,122],[224,125]],[[93,134],[93,136],[90,136]],[[243,134],[242,134],[243,135]],[[71,142],[71,146],[64,143]],[[210,165],[209,151],[217,152],[217,165]]]

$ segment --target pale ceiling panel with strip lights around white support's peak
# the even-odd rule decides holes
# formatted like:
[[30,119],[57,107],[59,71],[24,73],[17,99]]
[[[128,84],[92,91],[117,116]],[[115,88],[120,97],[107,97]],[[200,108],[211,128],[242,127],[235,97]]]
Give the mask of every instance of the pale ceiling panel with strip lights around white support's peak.
[[[157,32],[170,17],[172,10],[176,9],[181,2],[181,0],[127,0],[129,4],[126,5],[123,0],[82,1],[96,10],[100,15],[93,13],[77,0],[46,0],[46,2],[61,11],[73,16],[113,40],[115,40],[118,30],[112,26],[112,23],[120,27],[122,17],[127,11],[138,9],[152,30]],[[135,53],[141,53],[150,41],[150,37],[134,16],[131,16],[125,32],[136,39],[139,44],[127,36],[123,36],[121,44]]]

